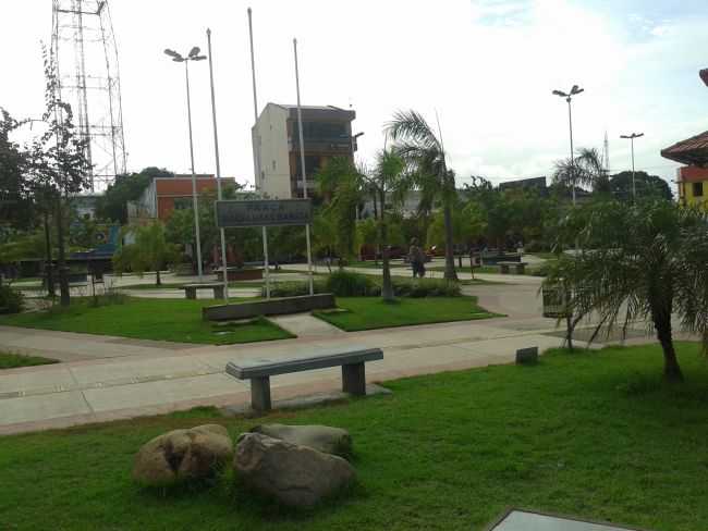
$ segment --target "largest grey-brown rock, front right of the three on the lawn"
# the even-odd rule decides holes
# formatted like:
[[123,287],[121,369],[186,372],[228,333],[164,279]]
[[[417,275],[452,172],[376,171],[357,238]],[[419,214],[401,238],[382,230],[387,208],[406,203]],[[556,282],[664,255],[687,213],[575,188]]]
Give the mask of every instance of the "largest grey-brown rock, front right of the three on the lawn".
[[341,457],[261,433],[239,437],[233,466],[246,486],[292,507],[312,507],[356,476]]

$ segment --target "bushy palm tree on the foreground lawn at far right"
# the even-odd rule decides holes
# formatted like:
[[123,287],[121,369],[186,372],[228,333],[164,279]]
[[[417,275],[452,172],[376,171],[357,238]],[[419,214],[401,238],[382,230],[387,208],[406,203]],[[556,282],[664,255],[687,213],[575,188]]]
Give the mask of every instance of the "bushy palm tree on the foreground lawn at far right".
[[627,206],[605,201],[573,209],[557,246],[578,238],[575,256],[561,255],[545,287],[565,293],[565,313],[599,317],[601,326],[649,321],[661,344],[666,380],[683,379],[671,319],[708,348],[708,217],[663,199]]

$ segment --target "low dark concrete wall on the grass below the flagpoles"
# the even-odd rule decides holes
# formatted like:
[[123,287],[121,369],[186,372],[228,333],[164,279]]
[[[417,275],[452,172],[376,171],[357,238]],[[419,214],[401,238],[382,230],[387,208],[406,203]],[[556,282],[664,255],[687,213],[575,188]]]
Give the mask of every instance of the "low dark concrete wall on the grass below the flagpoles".
[[231,321],[258,316],[281,316],[285,313],[324,310],[334,308],[334,295],[331,293],[321,293],[317,295],[305,295],[303,297],[284,297],[239,305],[208,306],[202,309],[202,318],[205,321]]

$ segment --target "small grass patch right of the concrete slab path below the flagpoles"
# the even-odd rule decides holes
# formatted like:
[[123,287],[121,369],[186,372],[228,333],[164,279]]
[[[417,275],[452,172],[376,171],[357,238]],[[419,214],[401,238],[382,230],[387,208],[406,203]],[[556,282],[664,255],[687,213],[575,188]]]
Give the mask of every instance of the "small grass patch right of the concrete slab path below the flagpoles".
[[313,314],[347,332],[497,317],[477,306],[476,297],[337,297],[337,306],[346,311]]

